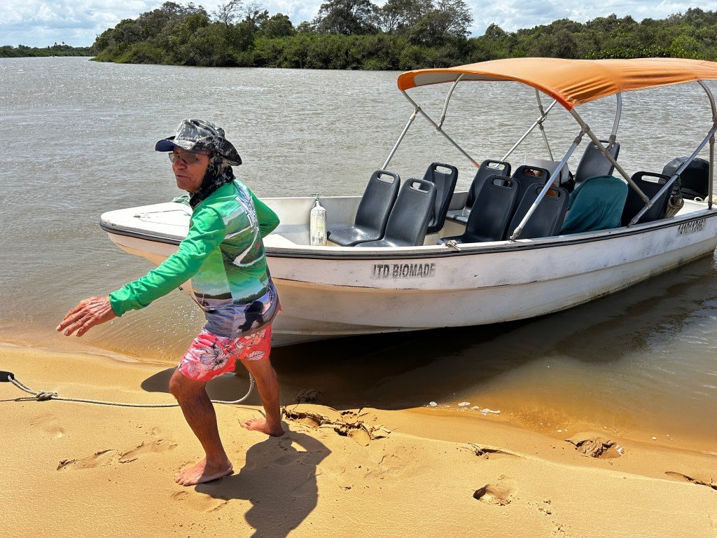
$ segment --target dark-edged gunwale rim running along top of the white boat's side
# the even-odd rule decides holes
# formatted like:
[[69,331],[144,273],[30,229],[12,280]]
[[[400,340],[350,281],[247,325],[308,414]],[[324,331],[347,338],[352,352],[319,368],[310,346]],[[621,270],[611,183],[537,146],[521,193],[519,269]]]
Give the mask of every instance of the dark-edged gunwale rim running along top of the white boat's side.
[[[288,250],[285,247],[266,247],[267,258],[306,258],[313,260],[386,260],[386,259],[416,259],[416,258],[449,258],[453,256],[480,255],[492,253],[516,252],[518,250],[534,250],[538,248],[563,247],[569,245],[579,245],[581,243],[598,242],[603,240],[613,240],[620,237],[629,237],[632,235],[646,234],[655,230],[663,230],[665,228],[676,227],[708,218],[717,217],[717,209],[698,209],[695,212],[685,213],[684,215],[676,215],[667,219],[645,222],[637,226],[610,228],[609,230],[600,230],[599,232],[587,232],[582,234],[556,235],[553,237],[540,237],[536,239],[518,239],[517,241],[496,241],[485,243],[461,243],[460,250],[447,250],[444,245],[419,245],[417,247],[399,247],[406,250],[386,249],[386,252],[377,252],[378,249],[366,250],[361,253],[360,248],[351,248],[351,252],[326,251],[325,247],[313,247],[315,252],[307,252],[312,248],[309,245],[296,245],[296,250]],[[125,237],[135,237],[141,240],[153,242],[161,242],[167,245],[179,245],[181,240],[162,237],[160,235],[133,232],[123,230],[118,227],[100,222],[100,227],[110,234],[122,235]],[[470,246],[473,245],[473,246]],[[493,246],[490,246],[493,245]],[[433,250],[437,247],[444,247],[441,250]],[[320,251],[322,249],[323,251]],[[424,249],[417,251],[416,249]]]

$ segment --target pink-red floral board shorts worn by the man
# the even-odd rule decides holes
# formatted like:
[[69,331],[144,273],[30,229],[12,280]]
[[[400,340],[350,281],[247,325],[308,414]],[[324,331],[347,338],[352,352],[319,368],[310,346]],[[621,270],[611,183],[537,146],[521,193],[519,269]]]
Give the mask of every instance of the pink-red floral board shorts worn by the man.
[[179,363],[179,372],[189,379],[209,381],[233,372],[237,359],[262,361],[271,352],[271,326],[248,336],[224,338],[204,329],[199,333]]

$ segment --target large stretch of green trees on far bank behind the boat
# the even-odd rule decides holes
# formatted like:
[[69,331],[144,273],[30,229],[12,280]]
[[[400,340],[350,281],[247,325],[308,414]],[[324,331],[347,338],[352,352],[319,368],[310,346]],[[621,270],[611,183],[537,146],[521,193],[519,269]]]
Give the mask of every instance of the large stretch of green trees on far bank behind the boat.
[[124,19],[90,47],[101,62],[198,66],[410,70],[508,57],[717,59],[717,11],[690,8],[665,19],[615,14],[560,19],[516,32],[490,24],[470,37],[464,0],[328,0],[294,25],[254,0],[204,7],[166,1]]

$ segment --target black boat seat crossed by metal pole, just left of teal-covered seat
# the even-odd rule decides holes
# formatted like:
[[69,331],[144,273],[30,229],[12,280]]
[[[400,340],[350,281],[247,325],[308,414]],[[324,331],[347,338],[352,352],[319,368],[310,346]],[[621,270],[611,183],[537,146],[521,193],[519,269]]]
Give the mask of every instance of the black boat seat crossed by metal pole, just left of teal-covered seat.
[[[523,217],[528,213],[533,202],[538,199],[538,194],[545,187],[544,183],[533,183],[528,187],[526,194],[523,194],[518,209],[513,215],[513,220],[508,226],[507,237],[513,235]],[[565,213],[568,210],[568,192],[562,187],[551,187],[541,200],[531,218],[526,222],[518,239],[533,239],[536,237],[551,237],[560,233],[560,228],[565,220]]]

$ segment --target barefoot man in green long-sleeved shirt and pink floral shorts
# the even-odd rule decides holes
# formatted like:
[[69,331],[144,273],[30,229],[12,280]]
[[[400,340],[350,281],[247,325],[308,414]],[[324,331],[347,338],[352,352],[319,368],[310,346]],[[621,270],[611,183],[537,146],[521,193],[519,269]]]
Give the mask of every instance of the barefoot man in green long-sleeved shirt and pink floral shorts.
[[189,192],[192,216],[186,239],[175,254],[142,278],[107,297],[81,301],[57,331],[66,336],[77,331],[82,336],[191,279],[187,285],[204,310],[206,325],[169,382],[204,448],[204,459],[174,477],[177,483],[191,486],[233,472],[205,386],[210,379],[232,372],[237,359],[254,376],[266,412],[265,419],[247,420],[244,426],[267,435],[284,433],[278,379],[269,361],[271,322],[279,298],[262,243],[279,220],[234,177],[232,165],[242,164],[242,159],[214,123],[184,120],[176,135],[158,141],[155,149],[169,152],[177,187]]

